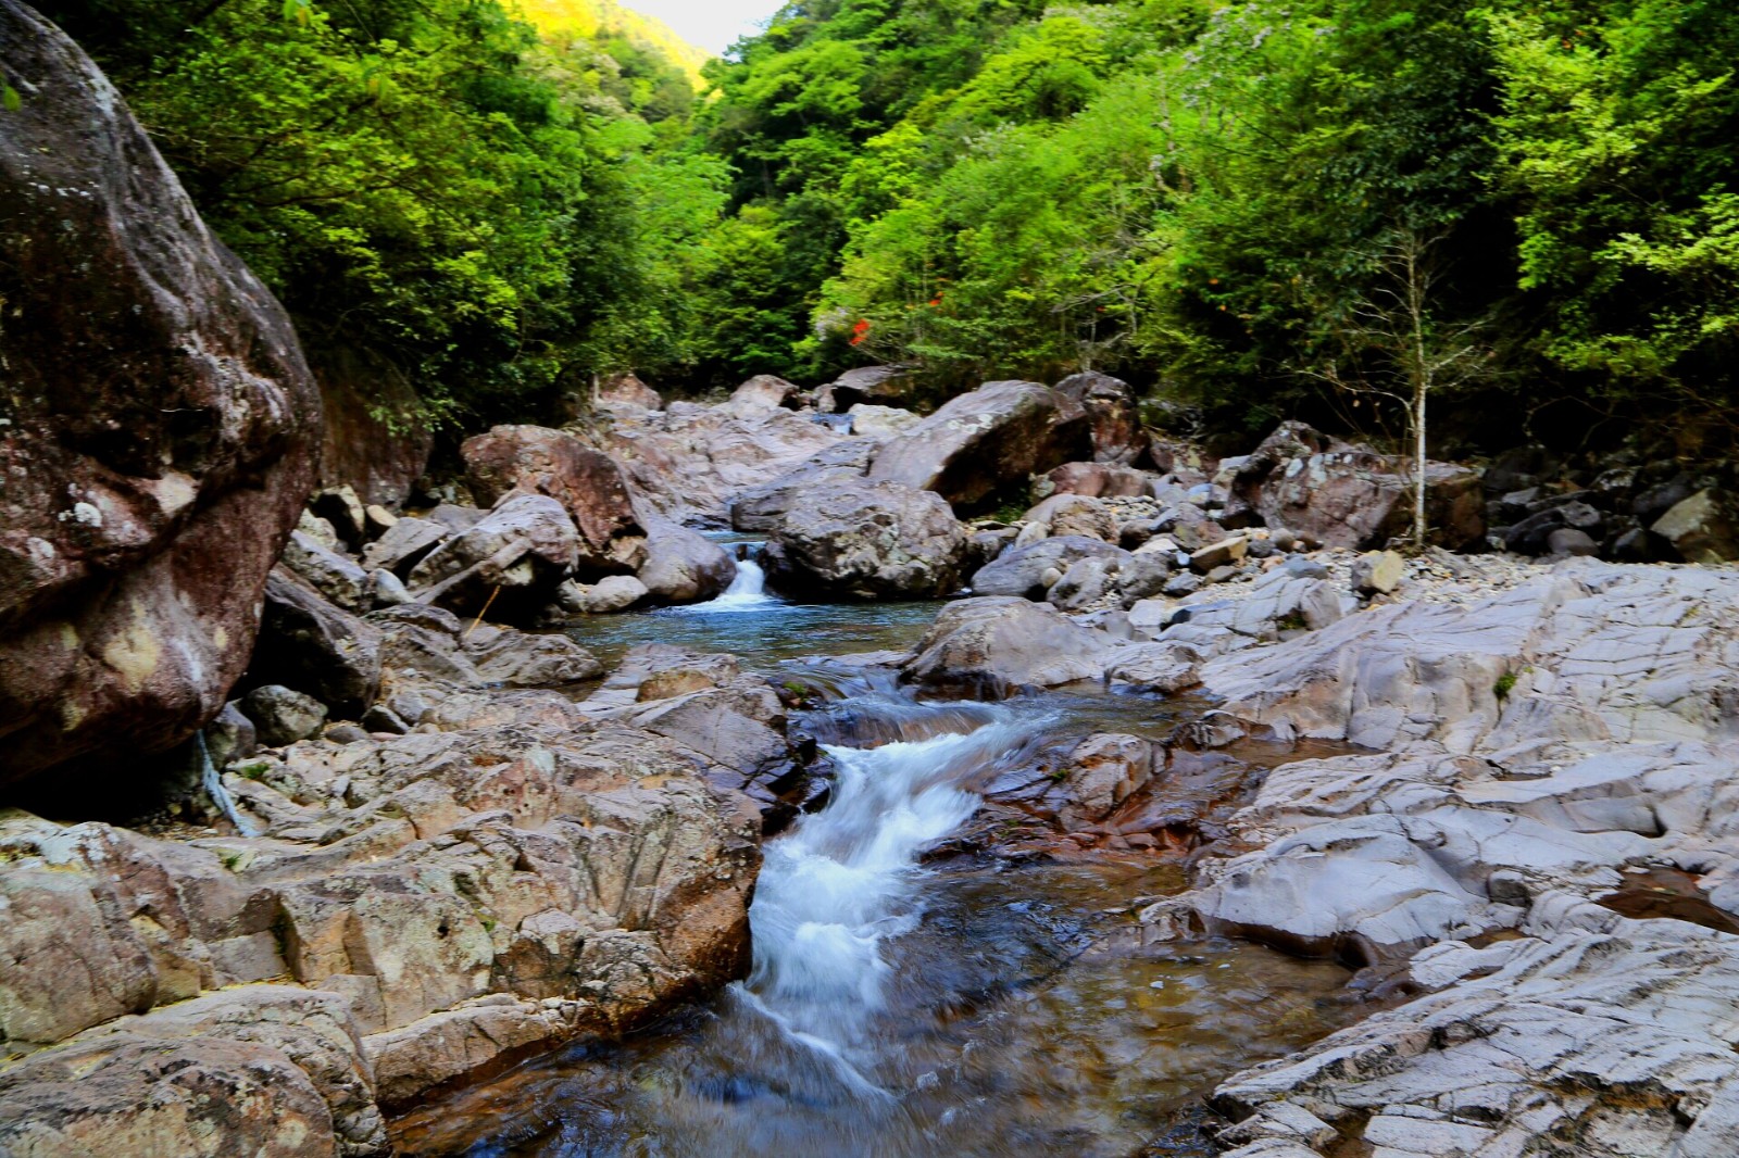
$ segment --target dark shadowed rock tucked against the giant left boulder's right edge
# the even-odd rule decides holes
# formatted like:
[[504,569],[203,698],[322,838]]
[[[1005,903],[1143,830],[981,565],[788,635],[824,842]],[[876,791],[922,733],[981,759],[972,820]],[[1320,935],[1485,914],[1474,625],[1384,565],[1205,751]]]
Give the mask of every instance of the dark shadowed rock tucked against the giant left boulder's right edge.
[[273,570],[247,680],[296,689],[355,720],[381,689],[381,635],[289,570]]

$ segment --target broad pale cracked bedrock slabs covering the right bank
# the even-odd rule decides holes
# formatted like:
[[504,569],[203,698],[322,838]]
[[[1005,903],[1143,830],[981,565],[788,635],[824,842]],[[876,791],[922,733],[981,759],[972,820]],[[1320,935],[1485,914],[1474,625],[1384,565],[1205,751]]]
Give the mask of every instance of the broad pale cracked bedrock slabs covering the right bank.
[[1252,727],[1367,751],[1275,769],[1229,821],[1238,855],[1143,922],[1410,956],[1426,993],[1231,1078],[1223,1144],[1730,1149],[1736,1036],[1692,1010],[1739,993],[1736,609],[1725,569],[1577,558],[1202,666]]

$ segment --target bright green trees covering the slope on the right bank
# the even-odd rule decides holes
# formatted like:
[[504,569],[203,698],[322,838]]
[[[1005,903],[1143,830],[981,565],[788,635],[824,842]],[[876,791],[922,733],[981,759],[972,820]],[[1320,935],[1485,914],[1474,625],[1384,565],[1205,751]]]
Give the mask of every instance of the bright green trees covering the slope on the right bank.
[[1092,365],[1370,426],[1410,250],[1508,436],[1662,396],[1706,424],[1736,393],[1736,59],[1722,0],[814,0],[716,66],[704,132],[743,228],[803,247],[750,336],[790,343],[776,369]]

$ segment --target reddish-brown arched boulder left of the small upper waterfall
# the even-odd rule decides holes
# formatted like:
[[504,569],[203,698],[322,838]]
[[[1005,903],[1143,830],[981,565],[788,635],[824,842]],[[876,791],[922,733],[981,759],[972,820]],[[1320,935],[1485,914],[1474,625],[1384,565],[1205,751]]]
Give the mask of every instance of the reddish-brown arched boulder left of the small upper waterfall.
[[581,574],[628,574],[645,562],[645,532],[628,478],[616,461],[546,426],[496,426],[466,438],[466,478],[482,502],[513,490],[546,494],[579,529]]

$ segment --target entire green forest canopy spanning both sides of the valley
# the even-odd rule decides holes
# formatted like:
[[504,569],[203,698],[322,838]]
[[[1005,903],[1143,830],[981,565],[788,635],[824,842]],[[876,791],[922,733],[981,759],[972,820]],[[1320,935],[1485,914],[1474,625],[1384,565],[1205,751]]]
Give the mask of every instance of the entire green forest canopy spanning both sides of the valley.
[[1727,0],[812,0],[699,94],[551,9],[45,5],[304,334],[436,416],[887,362],[930,398],[1092,367],[1223,426],[1360,424],[1409,252],[1511,435],[1729,421]]

